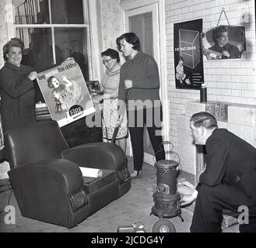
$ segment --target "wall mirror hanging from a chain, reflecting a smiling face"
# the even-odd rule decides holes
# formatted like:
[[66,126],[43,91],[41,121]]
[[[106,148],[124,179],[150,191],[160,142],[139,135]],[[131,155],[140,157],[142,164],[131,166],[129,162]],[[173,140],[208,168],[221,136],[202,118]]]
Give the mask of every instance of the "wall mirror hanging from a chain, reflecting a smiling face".
[[216,26],[202,33],[207,60],[239,59],[246,50],[244,26]]

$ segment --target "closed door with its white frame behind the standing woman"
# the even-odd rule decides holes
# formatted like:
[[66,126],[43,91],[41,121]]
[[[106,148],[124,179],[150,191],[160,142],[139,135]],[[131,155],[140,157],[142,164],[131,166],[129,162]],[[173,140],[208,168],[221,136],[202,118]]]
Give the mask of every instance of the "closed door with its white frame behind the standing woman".
[[[125,2],[125,1],[124,1]],[[153,1],[152,1],[153,2]],[[143,53],[152,55],[160,71],[160,98],[163,105],[163,140],[169,140],[169,117],[166,79],[166,46],[164,3],[155,1],[145,5],[135,1],[122,6],[124,9],[124,32],[133,32],[139,37]],[[128,147],[131,147],[128,144]],[[144,161],[153,165],[154,151],[147,129],[144,130]],[[130,154],[132,149],[130,148]]]

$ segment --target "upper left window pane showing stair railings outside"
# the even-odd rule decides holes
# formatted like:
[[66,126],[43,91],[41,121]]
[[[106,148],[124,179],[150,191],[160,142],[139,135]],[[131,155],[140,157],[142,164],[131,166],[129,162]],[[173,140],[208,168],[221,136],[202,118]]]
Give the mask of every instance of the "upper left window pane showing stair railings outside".
[[47,0],[13,0],[16,24],[49,24]]

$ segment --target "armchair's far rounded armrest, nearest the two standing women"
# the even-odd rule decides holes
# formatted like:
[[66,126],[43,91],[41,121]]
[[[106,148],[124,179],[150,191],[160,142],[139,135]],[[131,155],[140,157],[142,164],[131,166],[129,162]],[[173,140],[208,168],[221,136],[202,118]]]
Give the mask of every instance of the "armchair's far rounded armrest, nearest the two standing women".
[[124,151],[113,143],[86,143],[64,150],[61,156],[79,167],[118,170],[126,165]]

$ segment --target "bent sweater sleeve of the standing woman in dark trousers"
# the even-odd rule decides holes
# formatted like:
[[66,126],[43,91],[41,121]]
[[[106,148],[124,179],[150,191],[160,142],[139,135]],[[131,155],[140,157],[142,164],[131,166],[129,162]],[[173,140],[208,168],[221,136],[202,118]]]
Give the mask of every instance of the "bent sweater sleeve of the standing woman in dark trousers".
[[147,57],[144,62],[146,77],[135,78],[132,81],[132,88],[160,88],[159,71],[156,60],[153,57]]

